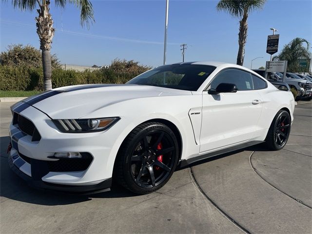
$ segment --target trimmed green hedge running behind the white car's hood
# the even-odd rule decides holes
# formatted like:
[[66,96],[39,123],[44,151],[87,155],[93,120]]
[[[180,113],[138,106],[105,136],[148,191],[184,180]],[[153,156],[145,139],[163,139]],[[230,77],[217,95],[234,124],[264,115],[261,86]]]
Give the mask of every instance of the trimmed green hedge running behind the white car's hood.
[[[52,87],[62,87],[76,84],[97,83],[125,83],[136,77],[149,67],[142,66],[135,71],[125,69],[101,68],[95,71],[85,70],[77,72],[74,70],[53,69]],[[0,65],[0,90],[24,91],[43,90],[43,72],[40,68],[29,68],[22,66]]]

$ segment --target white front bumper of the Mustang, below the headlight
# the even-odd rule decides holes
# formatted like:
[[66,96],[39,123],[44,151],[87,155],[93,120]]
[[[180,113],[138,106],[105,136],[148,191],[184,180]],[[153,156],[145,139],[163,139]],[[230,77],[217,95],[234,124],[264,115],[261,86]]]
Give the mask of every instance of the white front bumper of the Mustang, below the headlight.
[[[31,136],[20,130],[14,120],[9,127],[13,147],[9,164],[28,184],[73,193],[103,191],[111,187],[117,154],[116,150],[112,151],[116,139],[112,134],[115,135],[116,132],[107,130],[87,134],[60,133],[49,117],[32,106],[21,111],[19,115],[31,119],[40,134],[39,141],[33,141]],[[51,164],[62,160],[51,158],[57,152],[84,152],[92,160],[81,170],[62,171],[63,167],[52,167],[51,170]],[[69,162],[72,159],[66,160]]]

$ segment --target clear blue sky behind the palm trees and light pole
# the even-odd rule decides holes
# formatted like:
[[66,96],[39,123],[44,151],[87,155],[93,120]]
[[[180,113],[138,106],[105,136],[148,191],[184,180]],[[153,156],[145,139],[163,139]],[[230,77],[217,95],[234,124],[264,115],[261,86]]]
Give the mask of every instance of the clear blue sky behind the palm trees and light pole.
[[[113,59],[139,61],[153,67],[163,63],[165,0],[92,0],[95,23],[81,27],[79,9],[55,6],[50,13],[56,28],[52,54],[62,64],[108,65]],[[236,63],[239,20],[215,8],[217,0],[169,0],[167,64],[182,61],[180,44],[186,43],[185,61]],[[0,2],[0,51],[9,44],[39,48],[37,12],[13,9]],[[248,18],[244,66],[265,66],[270,28],[280,34],[278,53],[292,39],[312,43],[312,0],[267,0]],[[275,33],[276,34],[276,33]],[[278,54],[277,53],[277,54]],[[276,55],[277,55],[276,54]]]

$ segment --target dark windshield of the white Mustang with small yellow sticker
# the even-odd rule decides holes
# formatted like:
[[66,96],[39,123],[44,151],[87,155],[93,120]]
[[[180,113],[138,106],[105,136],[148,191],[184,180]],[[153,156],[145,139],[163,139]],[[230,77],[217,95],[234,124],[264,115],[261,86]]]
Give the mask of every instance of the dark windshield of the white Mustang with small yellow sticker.
[[215,66],[199,64],[173,64],[156,67],[147,71],[127,84],[152,85],[171,89],[196,91]]

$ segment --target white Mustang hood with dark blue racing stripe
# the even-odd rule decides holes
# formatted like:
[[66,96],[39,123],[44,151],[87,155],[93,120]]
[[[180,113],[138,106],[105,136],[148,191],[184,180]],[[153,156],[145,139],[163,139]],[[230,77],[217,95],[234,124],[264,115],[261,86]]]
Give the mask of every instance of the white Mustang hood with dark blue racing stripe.
[[76,85],[53,89],[23,101],[52,119],[59,119],[83,117],[130,99],[178,95],[192,95],[192,92],[147,85]]

